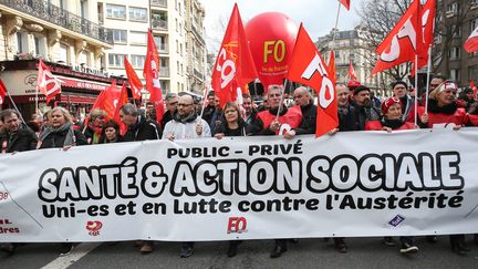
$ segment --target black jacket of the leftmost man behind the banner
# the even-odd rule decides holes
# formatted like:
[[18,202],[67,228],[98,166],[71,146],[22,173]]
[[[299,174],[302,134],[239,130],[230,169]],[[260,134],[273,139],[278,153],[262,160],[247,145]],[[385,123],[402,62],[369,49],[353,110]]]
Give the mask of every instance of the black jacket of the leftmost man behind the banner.
[[1,152],[4,143],[7,143],[7,153],[32,151],[37,148],[37,141],[35,133],[28,126],[20,126],[19,131],[13,134],[6,128],[0,132]]

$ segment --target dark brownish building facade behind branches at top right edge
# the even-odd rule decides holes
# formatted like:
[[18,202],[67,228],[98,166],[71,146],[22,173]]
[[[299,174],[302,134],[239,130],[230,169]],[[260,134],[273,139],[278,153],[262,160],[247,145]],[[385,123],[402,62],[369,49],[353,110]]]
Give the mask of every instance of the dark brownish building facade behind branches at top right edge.
[[478,27],[478,0],[438,0],[434,73],[446,75],[460,86],[478,81],[478,53],[468,53],[463,44]]

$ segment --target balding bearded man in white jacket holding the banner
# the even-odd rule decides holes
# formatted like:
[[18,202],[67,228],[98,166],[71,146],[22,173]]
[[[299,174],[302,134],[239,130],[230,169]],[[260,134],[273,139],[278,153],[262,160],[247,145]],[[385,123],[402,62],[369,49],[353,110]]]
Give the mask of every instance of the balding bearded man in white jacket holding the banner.
[[[173,115],[164,130],[163,138],[175,139],[191,139],[211,137],[211,132],[208,123],[196,114],[194,99],[189,94],[180,95],[178,99],[177,112]],[[183,242],[180,257],[188,258],[194,254],[195,242]]]

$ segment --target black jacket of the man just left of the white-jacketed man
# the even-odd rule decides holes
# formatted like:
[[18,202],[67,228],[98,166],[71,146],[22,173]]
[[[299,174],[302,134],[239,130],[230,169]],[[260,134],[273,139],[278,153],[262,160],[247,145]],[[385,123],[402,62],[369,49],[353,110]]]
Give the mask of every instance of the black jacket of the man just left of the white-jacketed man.
[[123,138],[125,142],[154,141],[160,139],[162,136],[163,130],[155,121],[145,120],[139,115],[136,124],[128,127]]

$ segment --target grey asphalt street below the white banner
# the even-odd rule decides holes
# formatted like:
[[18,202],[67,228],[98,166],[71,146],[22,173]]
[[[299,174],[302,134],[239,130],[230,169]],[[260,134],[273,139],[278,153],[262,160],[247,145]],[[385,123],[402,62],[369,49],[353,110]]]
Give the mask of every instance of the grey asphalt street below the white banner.
[[156,242],[149,255],[141,255],[132,241],[81,244],[61,258],[59,244],[27,244],[14,256],[0,254],[0,268],[478,268],[478,246],[471,236],[467,237],[471,251],[465,256],[451,252],[446,236],[438,237],[437,244],[417,238],[420,250],[413,256],[401,255],[398,245],[387,247],[381,238],[347,238],[346,242],[349,251],[340,254],[332,240],[300,239],[277,259],[269,258],[271,240],[245,241],[233,258],[226,256],[228,242],[197,242],[195,255],[187,259],[179,258],[179,242]]

